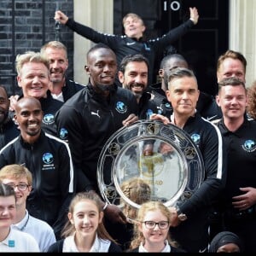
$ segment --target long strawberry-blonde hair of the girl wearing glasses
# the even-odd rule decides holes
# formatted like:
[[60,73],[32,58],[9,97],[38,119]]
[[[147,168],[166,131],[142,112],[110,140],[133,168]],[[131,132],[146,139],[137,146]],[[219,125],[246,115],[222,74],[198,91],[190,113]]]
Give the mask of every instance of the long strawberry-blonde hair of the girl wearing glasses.
[[[139,208],[137,211],[137,223],[134,224],[134,231],[133,231],[133,238],[131,240],[131,246],[130,248],[136,248],[138,247],[141,242],[145,241],[145,237],[143,236],[143,232],[141,232],[138,229],[138,225],[141,224],[141,222],[144,221],[144,216],[147,212],[154,212],[154,211],[160,211],[164,216],[166,216],[167,221],[171,223],[171,216],[172,213],[169,211],[168,207],[166,207],[162,202],[160,201],[148,201],[143,203],[143,205]],[[168,232],[168,235],[166,237],[168,242],[173,246],[177,247],[177,242],[173,241],[171,239],[170,233]]]

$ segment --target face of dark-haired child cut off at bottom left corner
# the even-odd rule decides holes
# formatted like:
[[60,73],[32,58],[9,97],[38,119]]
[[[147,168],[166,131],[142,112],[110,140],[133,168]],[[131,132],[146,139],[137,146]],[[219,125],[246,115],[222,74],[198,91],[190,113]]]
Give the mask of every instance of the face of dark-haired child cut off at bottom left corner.
[[15,196],[0,196],[0,230],[14,223],[16,214]]

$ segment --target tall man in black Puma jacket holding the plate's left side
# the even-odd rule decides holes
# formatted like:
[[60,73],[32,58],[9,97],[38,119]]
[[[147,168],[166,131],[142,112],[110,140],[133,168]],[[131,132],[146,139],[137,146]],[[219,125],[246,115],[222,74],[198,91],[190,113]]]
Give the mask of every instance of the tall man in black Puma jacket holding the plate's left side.
[[[86,59],[89,84],[64,103],[55,121],[59,136],[71,148],[78,175],[77,192],[99,193],[96,172],[102,148],[115,131],[137,121],[137,102],[131,91],[114,84],[117,60],[112,49],[96,44]],[[113,222],[125,222],[119,207],[105,204],[103,209]]]

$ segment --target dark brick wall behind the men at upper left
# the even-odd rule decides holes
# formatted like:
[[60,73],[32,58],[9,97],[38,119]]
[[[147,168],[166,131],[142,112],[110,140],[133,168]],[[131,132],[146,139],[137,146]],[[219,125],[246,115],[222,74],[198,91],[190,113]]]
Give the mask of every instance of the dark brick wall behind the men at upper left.
[[19,92],[16,84],[15,56],[55,39],[67,46],[69,68],[73,79],[73,32],[66,26],[55,29],[55,9],[73,16],[73,0],[1,0],[0,1],[0,84],[9,95]]

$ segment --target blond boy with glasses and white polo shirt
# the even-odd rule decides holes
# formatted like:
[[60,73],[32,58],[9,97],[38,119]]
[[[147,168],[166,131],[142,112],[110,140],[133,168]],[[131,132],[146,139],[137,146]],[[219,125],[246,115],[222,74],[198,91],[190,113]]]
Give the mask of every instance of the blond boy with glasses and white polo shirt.
[[0,181],[15,190],[16,216],[12,226],[15,230],[32,235],[38,241],[40,252],[47,252],[48,247],[56,241],[54,230],[26,210],[26,198],[32,191],[32,173],[25,166],[8,165],[0,170]]

